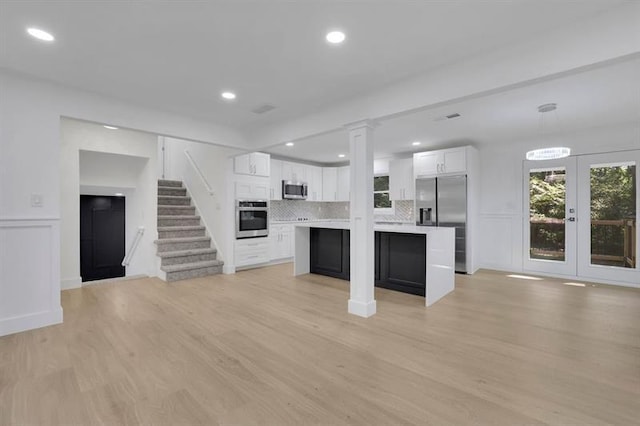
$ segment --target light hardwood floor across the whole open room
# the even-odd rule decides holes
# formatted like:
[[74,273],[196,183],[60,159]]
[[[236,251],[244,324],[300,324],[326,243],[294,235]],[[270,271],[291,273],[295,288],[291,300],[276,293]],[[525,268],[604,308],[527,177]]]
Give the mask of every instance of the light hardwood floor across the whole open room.
[[640,291],[481,271],[424,299],[291,264],[62,294],[0,338],[0,425],[637,425]]

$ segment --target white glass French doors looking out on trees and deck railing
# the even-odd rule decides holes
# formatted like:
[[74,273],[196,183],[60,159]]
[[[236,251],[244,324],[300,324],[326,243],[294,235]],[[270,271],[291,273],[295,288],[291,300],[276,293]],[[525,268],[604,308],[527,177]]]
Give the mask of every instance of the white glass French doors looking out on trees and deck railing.
[[640,286],[640,151],[526,161],[524,269]]

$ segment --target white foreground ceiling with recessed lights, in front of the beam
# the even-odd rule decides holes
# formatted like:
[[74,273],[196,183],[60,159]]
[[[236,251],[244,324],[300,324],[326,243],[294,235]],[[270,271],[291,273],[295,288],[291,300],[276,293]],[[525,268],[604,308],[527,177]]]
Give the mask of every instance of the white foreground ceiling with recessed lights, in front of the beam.
[[0,67],[249,131],[623,2],[0,0]]

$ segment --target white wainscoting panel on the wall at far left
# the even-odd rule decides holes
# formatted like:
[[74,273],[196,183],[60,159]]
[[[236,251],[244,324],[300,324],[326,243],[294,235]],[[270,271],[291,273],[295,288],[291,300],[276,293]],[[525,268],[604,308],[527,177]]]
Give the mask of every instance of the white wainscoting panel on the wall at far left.
[[58,219],[0,219],[0,336],[62,322]]

